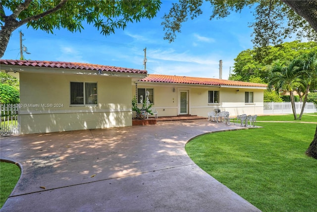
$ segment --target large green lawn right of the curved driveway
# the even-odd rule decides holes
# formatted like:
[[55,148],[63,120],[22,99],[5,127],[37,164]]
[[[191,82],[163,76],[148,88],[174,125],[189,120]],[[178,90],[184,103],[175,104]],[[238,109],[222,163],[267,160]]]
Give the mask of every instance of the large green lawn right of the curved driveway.
[[[281,115],[258,120],[293,119]],[[301,121],[316,122],[317,116],[305,115]],[[186,151],[202,169],[263,212],[317,212],[317,160],[305,155],[316,124],[258,125],[264,128],[199,136]]]

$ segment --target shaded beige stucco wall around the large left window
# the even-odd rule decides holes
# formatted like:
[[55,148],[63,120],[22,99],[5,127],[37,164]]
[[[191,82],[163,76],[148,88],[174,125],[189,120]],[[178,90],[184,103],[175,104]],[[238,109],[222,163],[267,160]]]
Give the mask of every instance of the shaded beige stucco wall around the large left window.
[[[70,82],[97,82],[97,106],[70,106]],[[20,73],[21,134],[132,125],[131,79]]]

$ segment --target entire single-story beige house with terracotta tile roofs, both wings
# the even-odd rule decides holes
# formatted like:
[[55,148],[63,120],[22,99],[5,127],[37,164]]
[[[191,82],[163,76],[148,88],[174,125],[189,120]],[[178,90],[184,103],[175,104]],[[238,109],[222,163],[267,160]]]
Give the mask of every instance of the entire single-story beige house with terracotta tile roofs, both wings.
[[77,62],[1,59],[0,70],[20,79],[21,134],[131,126],[131,100],[140,103],[146,91],[159,116],[261,114],[266,88]]

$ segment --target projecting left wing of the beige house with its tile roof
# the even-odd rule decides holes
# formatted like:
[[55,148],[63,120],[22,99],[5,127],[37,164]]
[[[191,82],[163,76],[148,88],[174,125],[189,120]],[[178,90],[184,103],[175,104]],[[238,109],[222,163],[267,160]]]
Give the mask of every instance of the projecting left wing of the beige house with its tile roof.
[[131,84],[147,73],[76,62],[0,64],[20,79],[21,134],[131,126]]

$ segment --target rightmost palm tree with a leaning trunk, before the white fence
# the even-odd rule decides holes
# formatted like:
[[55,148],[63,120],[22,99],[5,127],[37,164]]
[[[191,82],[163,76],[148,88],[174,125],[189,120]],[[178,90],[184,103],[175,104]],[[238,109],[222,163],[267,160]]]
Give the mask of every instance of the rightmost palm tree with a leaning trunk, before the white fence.
[[307,102],[308,92],[311,86],[311,83],[314,79],[317,78],[317,53],[311,52],[308,54],[303,54],[300,59],[303,61],[303,70],[301,78],[303,82],[306,82],[304,86],[306,87],[306,92],[304,95],[303,106],[301,110],[301,114],[298,119],[302,119],[302,115],[304,113],[305,105]]

